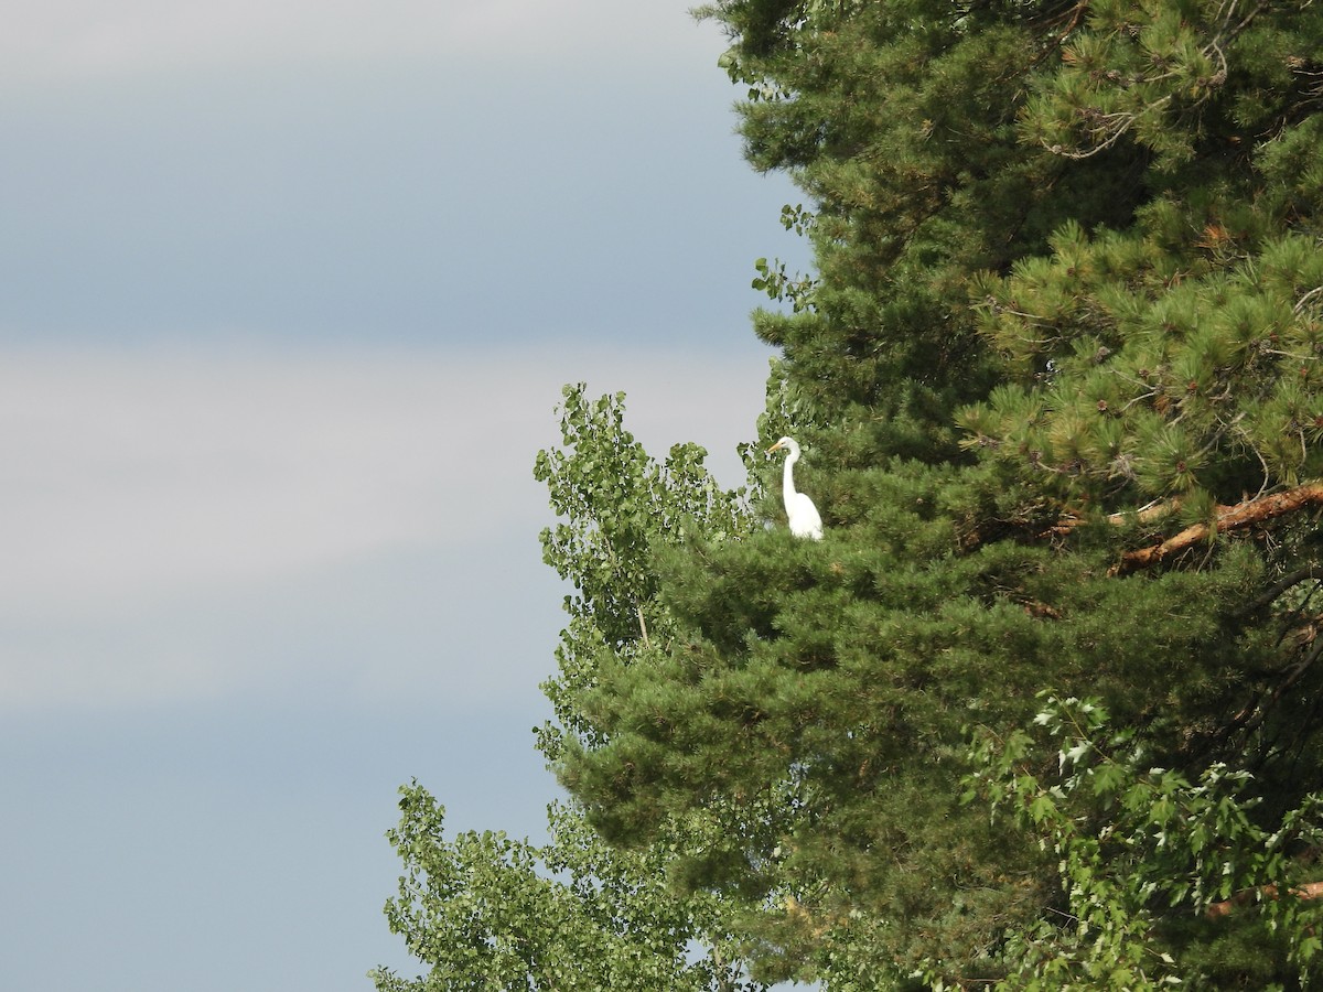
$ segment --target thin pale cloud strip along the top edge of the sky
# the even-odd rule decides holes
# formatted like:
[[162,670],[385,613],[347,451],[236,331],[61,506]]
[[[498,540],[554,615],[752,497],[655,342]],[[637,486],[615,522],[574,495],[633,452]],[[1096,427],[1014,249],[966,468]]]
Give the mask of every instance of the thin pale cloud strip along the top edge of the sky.
[[[532,60],[693,44],[683,5],[609,0],[29,0],[7,19],[0,77],[97,79],[273,62]],[[12,13],[12,12],[11,12]],[[710,40],[710,38],[709,38]]]

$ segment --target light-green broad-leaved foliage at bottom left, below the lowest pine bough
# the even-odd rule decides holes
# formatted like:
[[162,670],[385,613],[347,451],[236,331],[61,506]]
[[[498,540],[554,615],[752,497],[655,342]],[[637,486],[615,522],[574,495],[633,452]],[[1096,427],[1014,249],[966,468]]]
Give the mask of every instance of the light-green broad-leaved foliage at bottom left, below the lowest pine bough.
[[548,811],[545,847],[491,831],[447,841],[445,808],[417,783],[400,791],[400,827],[388,836],[406,874],[386,918],[431,972],[378,970],[378,992],[757,988],[716,948],[691,960],[714,902],[673,898],[660,852],[610,850],[564,806]]

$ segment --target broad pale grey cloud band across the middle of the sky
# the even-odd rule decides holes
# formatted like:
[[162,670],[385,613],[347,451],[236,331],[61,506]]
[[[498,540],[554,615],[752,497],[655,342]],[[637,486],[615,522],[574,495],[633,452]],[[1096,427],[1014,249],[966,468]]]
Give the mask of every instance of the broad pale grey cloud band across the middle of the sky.
[[536,684],[561,593],[531,470],[561,382],[631,392],[654,455],[699,440],[733,484],[763,376],[755,348],[11,349],[0,706]]

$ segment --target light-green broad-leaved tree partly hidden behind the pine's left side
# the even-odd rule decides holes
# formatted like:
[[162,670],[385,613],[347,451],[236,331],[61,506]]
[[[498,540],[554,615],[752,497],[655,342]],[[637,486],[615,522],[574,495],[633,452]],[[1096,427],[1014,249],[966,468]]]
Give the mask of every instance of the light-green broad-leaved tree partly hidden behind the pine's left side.
[[[700,447],[679,444],[654,462],[623,417],[622,395],[591,399],[583,385],[568,386],[562,447],[541,452],[534,470],[562,517],[542,533],[544,557],[574,590],[558,673],[544,686],[557,718],[540,729],[538,746],[550,759],[566,734],[601,739],[585,705],[601,677],[646,669],[673,641],[654,552],[700,530],[734,540],[751,525],[742,495],[714,484]],[[406,874],[386,917],[430,971],[405,979],[378,970],[378,992],[762,988],[745,975],[721,895],[673,877],[676,850],[709,843],[710,823],[677,817],[656,841],[623,850],[574,803],[557,803],[544,845],[490,831],[447,839],[445,808],[422,786],[401,796],[389,839]]]

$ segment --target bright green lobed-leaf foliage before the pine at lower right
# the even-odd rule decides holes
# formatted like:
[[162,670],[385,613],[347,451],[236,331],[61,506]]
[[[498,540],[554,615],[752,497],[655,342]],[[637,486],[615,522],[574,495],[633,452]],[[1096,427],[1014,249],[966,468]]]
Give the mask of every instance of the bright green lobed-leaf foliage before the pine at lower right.
[[[1041,733],[980,727],[982,767],[967,779],[967,802],[986,800],[1057,860],[1065,895],[1008,936],[1015,967],[998,987],[1265,988],[1293,970],[1306,983],[1323,907],[1297,888],[1312,861],[1299,853],[1323,840],[1323,795],[1269,828],[1249,771],[1215,762],[1191,782],[1150,767],[1136,733],[1113,730],[1097,701],[1041,696]],[[1250,973],[1228,970],[1220,943],[1257,959]]]

